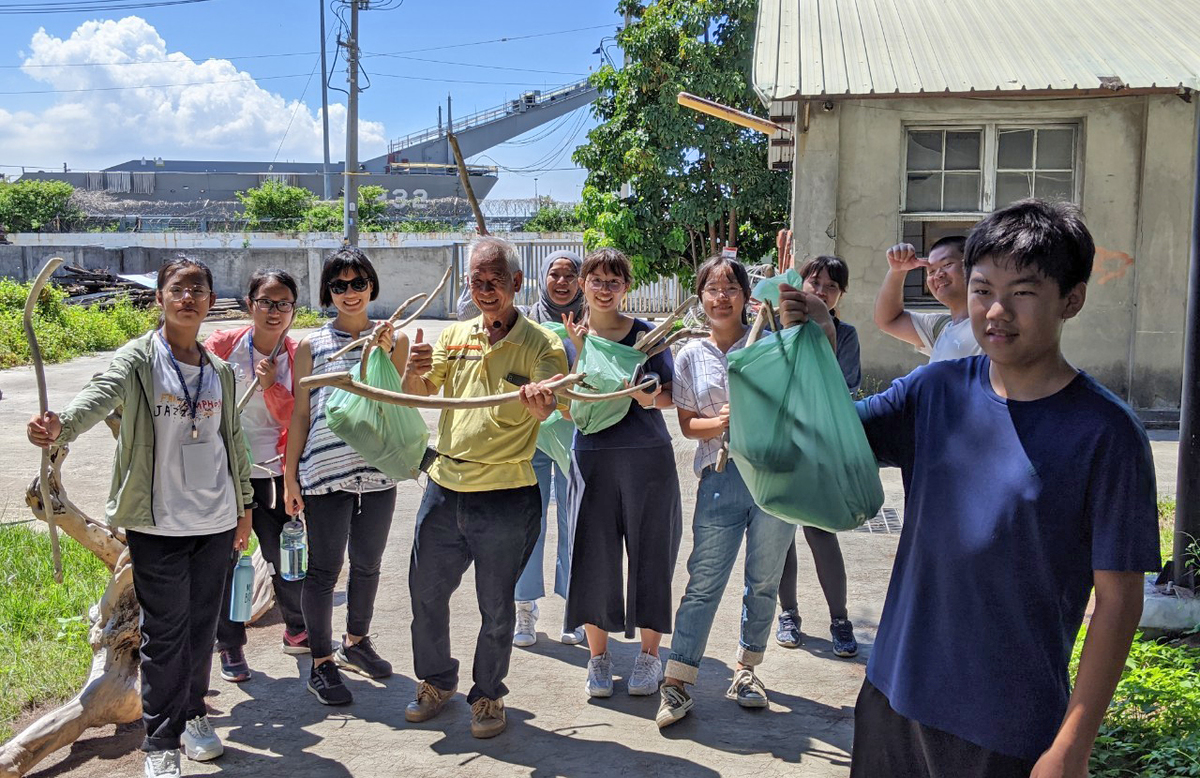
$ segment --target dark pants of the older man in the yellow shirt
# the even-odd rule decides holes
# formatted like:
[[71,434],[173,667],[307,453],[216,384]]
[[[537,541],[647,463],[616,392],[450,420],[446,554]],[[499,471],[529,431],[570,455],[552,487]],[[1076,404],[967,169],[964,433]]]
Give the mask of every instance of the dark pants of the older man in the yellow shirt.
[[432,480],[416,513],[408,567],[413,598],[413,668],[439,689],[458,686],[458,660],[450,656],[450,596],[475,563],[475,599],[484,624],[475,640],[474,686],[468,702],[509,693],[504,677],[512,656],[516,590],[541,532],[536,486],[456,492]]

